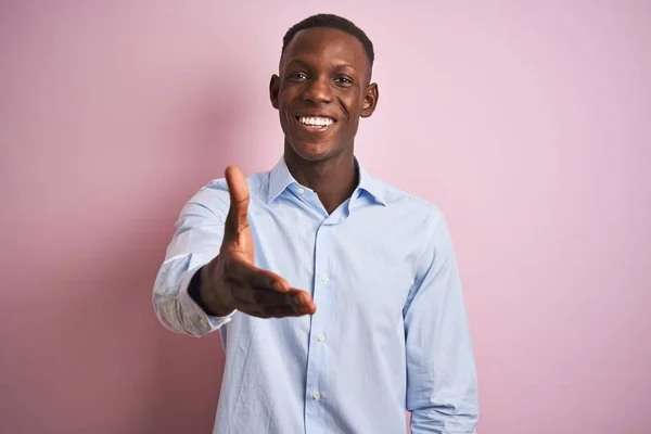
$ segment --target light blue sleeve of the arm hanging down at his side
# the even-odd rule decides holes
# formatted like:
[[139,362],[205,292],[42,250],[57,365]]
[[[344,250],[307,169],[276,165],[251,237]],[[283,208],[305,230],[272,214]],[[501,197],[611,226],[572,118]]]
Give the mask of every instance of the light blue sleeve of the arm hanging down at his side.
[[430,216],[418,278],[405,305],[407,410],[413,434],[473,434],[477,379],[452,243],[441,212]]

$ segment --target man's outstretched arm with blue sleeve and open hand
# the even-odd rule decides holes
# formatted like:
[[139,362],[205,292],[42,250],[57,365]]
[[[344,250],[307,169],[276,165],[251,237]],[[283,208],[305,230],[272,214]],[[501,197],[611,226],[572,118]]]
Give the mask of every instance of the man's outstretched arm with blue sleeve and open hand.
[[235,310],[258,318],[316,310],[309,293],[255,266],[247,181],[235,166],[225,175],[183,207],[154,283],[156,316],[177,333],[203,336]]

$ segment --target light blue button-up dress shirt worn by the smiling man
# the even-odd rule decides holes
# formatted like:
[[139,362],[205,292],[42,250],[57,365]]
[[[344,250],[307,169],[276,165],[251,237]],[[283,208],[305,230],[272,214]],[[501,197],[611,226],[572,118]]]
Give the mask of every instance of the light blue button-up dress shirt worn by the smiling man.
[[[188,295],[219,252],[224,179],[183,207],[153,303],[171,331],[219,330],[226,368],[214,433],[474,433],[477,381],[441,210],[370,177],[328,215],[284,159],[247,179],[256,266],[311,293],[314,316],[207,316]],[[209,374],[205,372],[204,374]]]

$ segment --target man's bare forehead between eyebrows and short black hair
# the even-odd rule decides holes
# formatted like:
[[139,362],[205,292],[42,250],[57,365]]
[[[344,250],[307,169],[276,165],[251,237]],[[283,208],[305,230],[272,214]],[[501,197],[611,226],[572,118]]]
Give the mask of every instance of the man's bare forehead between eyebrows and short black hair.
[[368,68],[368,59],[361,42],[336,28],[306,28],[294,35],[285,48],[283,64],[292,61],[324,64],[346,63],[361,72]]

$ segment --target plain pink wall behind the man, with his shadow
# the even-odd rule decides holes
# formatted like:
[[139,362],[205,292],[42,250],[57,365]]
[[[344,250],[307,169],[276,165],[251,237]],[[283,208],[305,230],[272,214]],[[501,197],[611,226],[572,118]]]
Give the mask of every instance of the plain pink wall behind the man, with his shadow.
[[[269,76],[323,11],[231,3],[0,3],[0,432],[209,432],[218,336],[165,331],[154,276],[192,193],[280,157]],[[450,220],[481,434],[649,433],[651,3],[350,3],[358,155]]]

